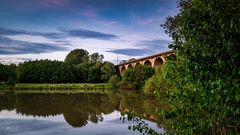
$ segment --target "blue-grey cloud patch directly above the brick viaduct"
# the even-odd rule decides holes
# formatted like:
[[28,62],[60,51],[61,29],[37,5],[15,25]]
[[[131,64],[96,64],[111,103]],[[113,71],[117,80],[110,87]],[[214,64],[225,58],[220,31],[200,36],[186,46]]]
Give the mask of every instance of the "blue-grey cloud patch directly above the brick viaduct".
[[129,48],[129,49],[114,49],[108,52],[112,52],[115,54],[123,54],[128,56],[146,56],[152,55],[155,53],[160,53],[169,50],[168,43],[169,40],[142,40],[139,41],[136,46],[140,47],[140,49]]

